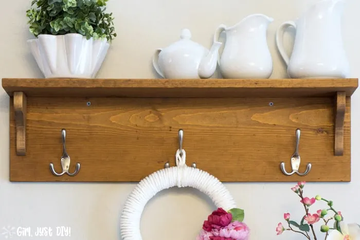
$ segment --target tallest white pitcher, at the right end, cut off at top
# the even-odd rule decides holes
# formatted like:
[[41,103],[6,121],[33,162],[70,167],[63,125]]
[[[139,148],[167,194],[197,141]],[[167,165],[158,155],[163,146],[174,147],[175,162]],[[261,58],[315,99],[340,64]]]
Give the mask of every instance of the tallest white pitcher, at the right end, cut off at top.
[[[291,78],[347,78],[349,62],[341,38],[344,0],[322,0],[311,6],[296,22],[280,25],[276,45]],[[282,38],[288,27],[296,29],[291,57]]]

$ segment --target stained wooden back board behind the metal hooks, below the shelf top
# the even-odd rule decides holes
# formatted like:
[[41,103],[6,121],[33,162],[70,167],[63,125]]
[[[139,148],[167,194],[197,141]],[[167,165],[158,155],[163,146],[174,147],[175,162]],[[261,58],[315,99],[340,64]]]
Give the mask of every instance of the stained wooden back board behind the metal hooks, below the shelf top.
[[[31,97],[24,157],[16,156],[10,104],[10,180],[137,182],[167,161],[175,165],[177,131],[183,128],[187,164],[196,162],[223,182],[350,181],[350,98],[343,156],[334,156],[334,104],[334,97]],[[75,177],[56,177],[49,170],[50,162],[61,170],[62,128],[70,172],[81,163]],[[296,128],[301,129],[300,172],[308,162],[313,165],[305,177],[280,170],[284,161],[290,172]]]

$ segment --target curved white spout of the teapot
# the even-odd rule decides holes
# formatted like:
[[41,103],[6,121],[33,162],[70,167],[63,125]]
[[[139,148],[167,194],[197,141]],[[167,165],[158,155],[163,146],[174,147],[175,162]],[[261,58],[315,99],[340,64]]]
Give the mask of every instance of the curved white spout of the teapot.
[[200,78],[210,78],[214,74],[218,65],[219,49],[221,45],[221,42],[214,41],[207,56],[201,60],[199,69],[197,70]]

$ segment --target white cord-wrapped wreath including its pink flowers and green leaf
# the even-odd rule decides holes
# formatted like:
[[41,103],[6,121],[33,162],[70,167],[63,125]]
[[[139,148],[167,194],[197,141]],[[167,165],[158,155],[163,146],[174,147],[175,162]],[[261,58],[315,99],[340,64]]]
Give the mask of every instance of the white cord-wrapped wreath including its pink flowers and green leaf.
[[208,195],[217,206],[203,223],[197,240],[247,240],[249,228],[244,211],[236,208],[230,192],[218,178],[188,167],[185,150],[176,151],[176,167],[161,169],[142,179],[124,204],[120,218],[123,240],[142,240],[140,218],[147,202],[158,192],[172,187],[191,187]]

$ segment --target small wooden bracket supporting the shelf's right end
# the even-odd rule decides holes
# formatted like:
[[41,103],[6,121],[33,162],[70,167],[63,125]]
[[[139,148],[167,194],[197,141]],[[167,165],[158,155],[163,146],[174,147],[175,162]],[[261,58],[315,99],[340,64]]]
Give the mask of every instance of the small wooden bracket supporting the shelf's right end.
[[345,120],[345,108],[346,108],[346,93],[345,91],[338,91],[335,97],[336,109],[335,109],[335,145],[334,155],[344,155],[344,120]]

